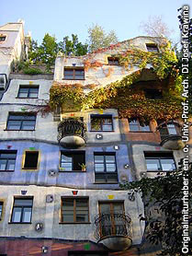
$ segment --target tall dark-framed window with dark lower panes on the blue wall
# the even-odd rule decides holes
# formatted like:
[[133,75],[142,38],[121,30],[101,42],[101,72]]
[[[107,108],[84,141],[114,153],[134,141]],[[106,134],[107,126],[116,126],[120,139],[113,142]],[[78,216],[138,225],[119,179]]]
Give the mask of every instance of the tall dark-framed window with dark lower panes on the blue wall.
[[95,153],[95,180],[96,183],[117,183],[118,171],[116,156],[113,153]]

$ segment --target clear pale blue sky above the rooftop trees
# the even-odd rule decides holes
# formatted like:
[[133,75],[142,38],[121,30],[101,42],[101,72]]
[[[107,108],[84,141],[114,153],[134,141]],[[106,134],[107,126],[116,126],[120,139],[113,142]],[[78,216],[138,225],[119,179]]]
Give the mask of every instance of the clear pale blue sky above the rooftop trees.
[[[77,34],[85,42],[87,29],[93,24],[107,32],[115,30],[119,41],[144,35],[141,22],[151,16],[162,16],[172,38],[179,41],[177,9],[191,0],[0,0],[0,26],[25,20],[25,33],[31,31],[39,44],[45,33],[54,35],[57,41]],[[192,4],[192,3],[191,3]],[[191,5],[192,7],[192,5]]]

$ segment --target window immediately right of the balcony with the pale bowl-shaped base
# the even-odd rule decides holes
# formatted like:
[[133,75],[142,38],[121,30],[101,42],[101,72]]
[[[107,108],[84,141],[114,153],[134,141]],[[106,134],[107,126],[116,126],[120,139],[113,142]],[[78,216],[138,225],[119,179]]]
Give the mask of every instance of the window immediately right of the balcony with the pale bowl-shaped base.
[[91,131],[113,131],[111,115],[91,115]]

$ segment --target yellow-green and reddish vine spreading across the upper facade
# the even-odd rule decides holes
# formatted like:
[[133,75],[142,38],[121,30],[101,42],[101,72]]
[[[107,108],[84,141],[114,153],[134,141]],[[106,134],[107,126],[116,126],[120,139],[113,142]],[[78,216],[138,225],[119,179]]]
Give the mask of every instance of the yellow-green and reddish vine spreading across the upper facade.
[[[83,86],[81,84],[58,84],[51,87],[50,105],[73,106],[76,111],[87,109],[118,109],[120,118],[138,117],[141,119],[175,119],[181,116],[181,76],[175,68],[177,60],[175,53],[168,44],[160,46],[160,52],[143,52],[132,49],[119,57],[119,64],[130,70],[133,66],[140,71],[123,77],[120,81],[113,82],[106,87],[99,87],[85,94],[84,88],[94,88],[96,85]],[[155,87],[163,92],[163,99],[146,99],[143,88],[138,90],[136,83],[140,81],[143,69],[151,64],[151,72],[156,76]],[[85,60],[85,68],[102,67],[98,61],[90,58]]]

